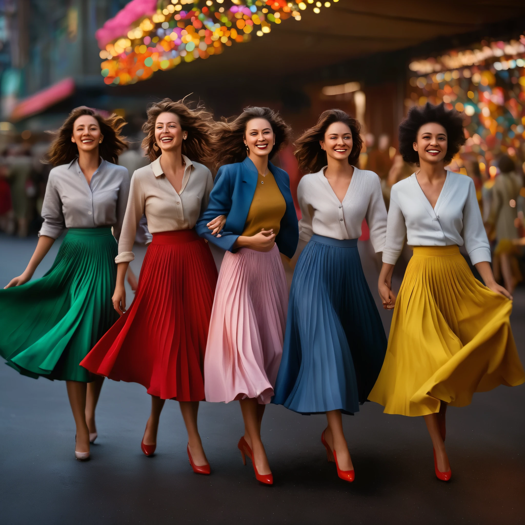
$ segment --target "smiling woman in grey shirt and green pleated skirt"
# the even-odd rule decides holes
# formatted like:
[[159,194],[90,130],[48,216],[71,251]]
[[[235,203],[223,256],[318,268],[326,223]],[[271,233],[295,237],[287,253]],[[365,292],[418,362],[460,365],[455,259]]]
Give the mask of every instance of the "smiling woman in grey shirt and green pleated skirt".
[[[73,110],[51,144],[42,206],[44,224],[22,275],[0,290],[0,354],[21,374],[66,381],[77,426],[75,456],[89,458],[97,437],[95,406],[102,378],[80,366],[118,316],[111,308],[114,258],[128,201],[128,171],[117,115]],[[27,282],[64,230],[53,267]],[[93,381],[95,380],[95,381]],[[89,385],[89,386],[86,386]]]

